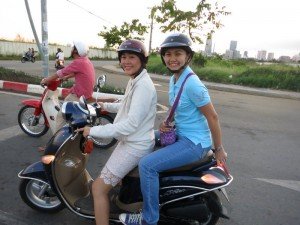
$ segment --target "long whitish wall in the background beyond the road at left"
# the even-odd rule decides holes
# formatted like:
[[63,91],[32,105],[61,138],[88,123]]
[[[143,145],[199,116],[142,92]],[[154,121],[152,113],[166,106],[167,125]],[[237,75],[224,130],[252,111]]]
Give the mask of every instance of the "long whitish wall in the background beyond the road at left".
[[[11,42],[11,41],[0,41],[0,55],[22,55],[28,51],[28,48],[34,48],[38,51],[38,47],[35,43],[23,43],[23,42]],[[55,55],[57,48],[61,48],[65,54],[65,57],[70,56],[71,46],[63,45],[49,45],[49,55]],[[101,49],[90,49],[89,57],[98,57],[103,59],[116,59],[118,55],[116,51],[101,50]]]

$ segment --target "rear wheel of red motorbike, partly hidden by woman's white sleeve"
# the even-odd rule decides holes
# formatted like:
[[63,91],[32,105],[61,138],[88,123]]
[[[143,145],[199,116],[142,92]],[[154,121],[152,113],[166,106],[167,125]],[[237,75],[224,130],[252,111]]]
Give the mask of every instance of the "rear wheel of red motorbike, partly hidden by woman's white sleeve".
[[[96,119],[95,126],[97,125],[105,125],[109,123],[113,123],[114,120],[108,115],[101,115]],[[94,145],[101,149],[107,149],[114,146],[117,143],[117,139],[115,138],[94,138],[97,142],[94,142]]]

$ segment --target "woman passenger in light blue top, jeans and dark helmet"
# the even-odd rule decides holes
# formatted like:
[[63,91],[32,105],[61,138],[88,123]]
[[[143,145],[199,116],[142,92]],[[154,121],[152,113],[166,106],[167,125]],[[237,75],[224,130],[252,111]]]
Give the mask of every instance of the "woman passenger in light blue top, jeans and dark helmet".
[[[193,73],[189,63],[193,57],[191,40],[183,34],[168,36],[161,45],[163,64],[173,73],[169,86],[169,103],[173,105],[179,89]],[[203,158],[212,146],[217,161],[226,160],[222,146],[218,115],[211,103],[207,88],[196,75],[187,78],[174,122],[178,140],[155,151],[139,162],[143,210],[141,214],[121,214],[120,221],[126,225],[156,225],[159,220],[159,172],[180,167]],[[164,122],[161,131],[168,131]]]

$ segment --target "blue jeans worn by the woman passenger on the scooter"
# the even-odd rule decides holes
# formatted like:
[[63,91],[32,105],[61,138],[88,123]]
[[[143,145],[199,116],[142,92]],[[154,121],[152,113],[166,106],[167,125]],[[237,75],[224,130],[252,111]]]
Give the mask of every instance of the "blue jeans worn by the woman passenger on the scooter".
[[156,225],[159,220],[159,172],[180,167],[203,158],[209,148],[195,145],[185,137],[162,149],[144,156],[139,162],[143,194],[143,220]]

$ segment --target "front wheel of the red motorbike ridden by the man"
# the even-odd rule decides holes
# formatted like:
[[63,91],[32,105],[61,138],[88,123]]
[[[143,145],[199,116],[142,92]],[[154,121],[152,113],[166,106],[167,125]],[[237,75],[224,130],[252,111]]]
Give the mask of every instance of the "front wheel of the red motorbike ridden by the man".
[[18,114],[18,123],[21,129],[31,137],[41,137],[49,130],[49,127],[45,124],[44,114],[41,113],[40,118],[36,121],[36,125],[32,124],[35,119],[35,108],[33,106],[23,106]]

